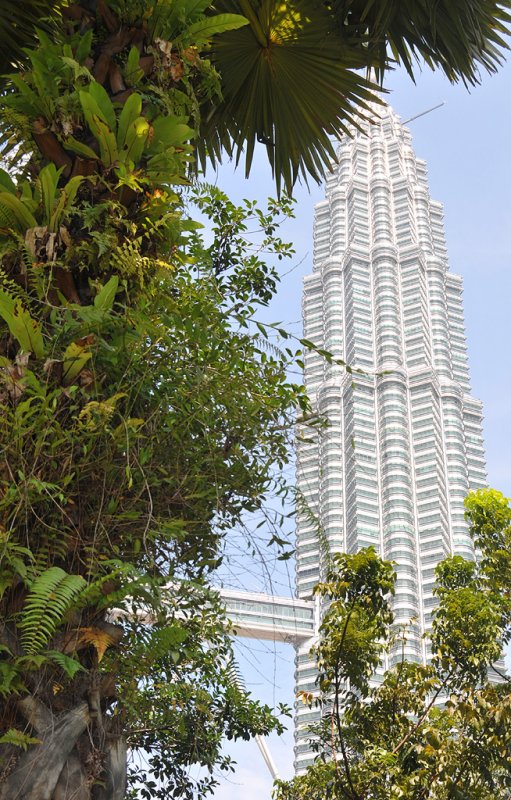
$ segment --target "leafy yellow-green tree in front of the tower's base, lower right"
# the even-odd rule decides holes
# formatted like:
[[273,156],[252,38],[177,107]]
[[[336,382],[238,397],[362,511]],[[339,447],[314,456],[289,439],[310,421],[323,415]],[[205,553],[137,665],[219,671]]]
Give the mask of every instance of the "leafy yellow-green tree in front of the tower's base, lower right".
[[511,680],[498,660],[511,639],[511,508],[500,492],[466,500],[479,563],[436,568],[438,607],[427,666],[402,660],[371,684],[392,627],[395,575],[372,548],[334,555],[317,594],[330,600],[314,648],[322,709],[318,757],[275,790],[277,800],[505,800]]

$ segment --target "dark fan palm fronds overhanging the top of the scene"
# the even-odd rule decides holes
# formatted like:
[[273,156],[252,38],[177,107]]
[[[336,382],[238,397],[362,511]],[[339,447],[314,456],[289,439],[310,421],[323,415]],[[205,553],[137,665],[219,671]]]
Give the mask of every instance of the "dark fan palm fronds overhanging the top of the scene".
[[[51,0],[46,5],[55,7]],[[116,12],[121,27],[125,23],[124,35],[135,5],[97,2]],[[216,12],[242,14],[249,24],[214,38],[209,50],[221,93],[209,98],[201,119],[201,160],[220,160],[227,152],[237,161],[243,157],[248,173],[260,142],[277,186],[288,191],[298,176],[319,181],[335,159],[331,138],[371,116],[369,101],[381,102],[373,92],[377,87],[360,70],[375,68],[381,82],[395,65],[402,64],[413,78],[425,62],[452,82],[475,85],[480,69],[495,72],[502,63],[511,21],[510,0],[217,0],[212,5]],[[84,0],[84,14],[95,6],[96,0]],[[19,58],[19,9],[17,0],[0,2],[0,18],[10,31],[3,37],[2,71]],[[205,40],[195,44],[203,49]],[[103,54],[103,69],[107,58]],[[150,64],[144,61],[149,72]],[[99,67],[95,77],[103,82]]]

